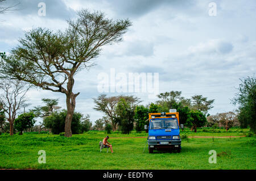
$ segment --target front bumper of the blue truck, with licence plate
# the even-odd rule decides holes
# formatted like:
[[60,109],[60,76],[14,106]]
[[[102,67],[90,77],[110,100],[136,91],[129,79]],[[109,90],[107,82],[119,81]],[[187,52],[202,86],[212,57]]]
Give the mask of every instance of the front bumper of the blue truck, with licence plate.
[[[168,144],[161,144],[161,142],[168,142]],[[175,145],[181,145],[181,140],[147,140],[150,148],[173,148]]]

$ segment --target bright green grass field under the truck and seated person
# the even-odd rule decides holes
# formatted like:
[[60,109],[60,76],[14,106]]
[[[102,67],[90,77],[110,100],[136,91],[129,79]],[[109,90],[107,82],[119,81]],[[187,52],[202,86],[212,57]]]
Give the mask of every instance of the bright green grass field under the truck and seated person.
[[[220,133],[181,132],[187,136],[242,136],[247,129]],[[181,153],[143,153],[147,133],[109,134],[114,153],[98,148],[104,132],[90,131],[71,138],[53,134],[0,136],[1,169],[256,169],[256,138],[183,139]],[[118,138],[119,137],[119,138]],[[122,138],[120,138],[122,137]],[[126,137],[126,138],[123,138]],[[38,163],[38,151],[46,151],[46,164]],[[210,164],[209,150],[217,151],[217,163]]]

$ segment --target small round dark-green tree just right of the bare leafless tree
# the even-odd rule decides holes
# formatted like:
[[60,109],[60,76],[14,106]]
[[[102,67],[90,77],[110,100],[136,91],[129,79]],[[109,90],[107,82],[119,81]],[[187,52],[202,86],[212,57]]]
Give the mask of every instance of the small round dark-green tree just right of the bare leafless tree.
[[32,112],[19,115],[14,121],[15,129],[22,134],[25,129],[32,128],[35,124],[34,117],[35,115]]

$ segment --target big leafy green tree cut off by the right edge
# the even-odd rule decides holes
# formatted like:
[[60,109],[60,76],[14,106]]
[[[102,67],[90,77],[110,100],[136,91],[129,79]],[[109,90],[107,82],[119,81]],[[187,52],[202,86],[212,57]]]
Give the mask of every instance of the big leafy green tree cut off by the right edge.
[[243,127],[250,125],[250,130],[256,133],[256,78],[240,79],[238,92],[233,98],[233,104],[238,104],[238,119]]

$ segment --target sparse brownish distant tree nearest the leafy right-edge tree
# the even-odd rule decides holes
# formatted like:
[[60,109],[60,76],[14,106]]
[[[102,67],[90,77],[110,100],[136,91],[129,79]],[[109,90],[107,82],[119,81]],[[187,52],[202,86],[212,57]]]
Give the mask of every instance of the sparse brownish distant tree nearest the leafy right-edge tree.
[[234,124],[236,124],[237,115],[236,113],[229,111],[218,114],[220,123],[225,127],[226,131],[228,131],[229,128],[233,127]]

